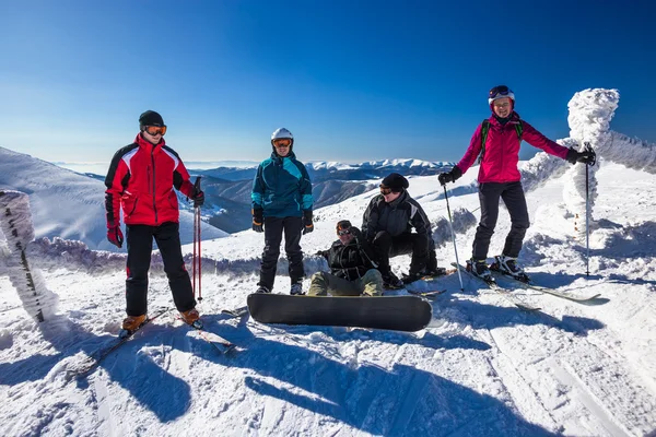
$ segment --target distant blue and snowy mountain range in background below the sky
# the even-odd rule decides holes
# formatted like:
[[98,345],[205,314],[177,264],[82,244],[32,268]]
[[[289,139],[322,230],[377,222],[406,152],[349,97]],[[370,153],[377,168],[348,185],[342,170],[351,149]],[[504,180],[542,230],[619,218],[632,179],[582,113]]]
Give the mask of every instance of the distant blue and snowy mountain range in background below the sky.
[[[59,164],[60,166],[57,166],[0,147],[0,189],[19,190],[30,194],[37,237],[61,236],[80,239],[91,249],[113,250],[113,246],[105,238],[105,175],[92,173],[96,167],[102,169],[104,166],[98,164],[90,170],[83,163],[79,163],[75,164],[79,173],[61,168],[70,168],[70,164]],[[202,189],[206,192],[203,220],[211,225],[207,229],[203,228],[203,238],[220,237],[225,233],[249,228],[250,190],[258,163],[221,162],[227,166],[211,169],[194,167],[195,164],[206,167],[208,163],[186,164],[194,178],[202,177]],[[393,172],[406,176],[426,176],[436,175],[452,166],[450,163],[420,160],[306,164],[313,182],[315,209],[370,191]],[[183,194],[178,193],[178,199],[184,222],[180,226],[181,237],[184,243],[189,243],[192,229],[191,206]]]

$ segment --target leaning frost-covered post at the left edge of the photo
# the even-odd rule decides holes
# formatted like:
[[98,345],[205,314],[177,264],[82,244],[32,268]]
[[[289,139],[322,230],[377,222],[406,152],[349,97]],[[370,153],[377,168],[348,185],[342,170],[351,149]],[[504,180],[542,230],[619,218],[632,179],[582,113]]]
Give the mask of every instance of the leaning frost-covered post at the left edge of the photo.
[[35,320],[44,321],[57,312],[57,295],[46,288],[38,269],[30,268],[25,248],[34,239],[30,198],[19,191],[0,191],[0,227],[10,253],[7,271],[19,292],[23,307]]

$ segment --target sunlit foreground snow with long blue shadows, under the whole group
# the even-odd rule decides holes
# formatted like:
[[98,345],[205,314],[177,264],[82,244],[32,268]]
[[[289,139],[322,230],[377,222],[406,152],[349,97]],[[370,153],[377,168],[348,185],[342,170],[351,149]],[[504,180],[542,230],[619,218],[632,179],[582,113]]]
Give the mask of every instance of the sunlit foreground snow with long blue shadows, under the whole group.
[[[43,323],[27,317],[0,263],[0,435],[653,436],[656,176],[602,164],[590,276],[585,240],[572,237],[564,177],[543,177],[527,193],[531,228],[520,257],[539,284],[601,299],[581,305],[516,288],[542,308],[523,312],[476,280],[462,277],[460,291],[452,274],[410,285],[447,290],[432,302],[431,326],[414,334],[265,326],[222,315],[256,288],[263,238],[248,231],[202,246],[199,309],[207,329],[237,351],[218,354],[171,311],[89,377],[71,378],[68,369],[118,332],[125,256],[37,241],[28,257],[59,295],[60,315]],[[476,173],[449,187],[459,217],[478,220]],[[426,176],[410,178],[409,191],[438,223],[438,260],[448,265],[455,257],[443,189]],[[360,224],[374,194],[317,211],[316,231],[302,240],[308,275],[326,268],[314,253],[336,239],[335,223]],[[456,223],[461,261],[476,227],[469,218]],[[490,255],[501,250],[508,226],[502,210]],[[408,265],[409,257],[393,259],[397,273]],[[285,270],[283,256],[276,293],[289,292]],[[149,305],[173,307],[156,257]]]

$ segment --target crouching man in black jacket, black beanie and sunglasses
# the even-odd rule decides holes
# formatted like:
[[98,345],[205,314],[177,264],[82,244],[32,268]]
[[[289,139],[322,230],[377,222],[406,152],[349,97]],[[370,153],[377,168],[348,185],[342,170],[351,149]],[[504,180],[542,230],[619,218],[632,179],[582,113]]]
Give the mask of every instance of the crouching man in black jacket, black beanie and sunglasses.
[[[362,234],[374,250],[383,282],[388,287],[401,287],[422,276],[445,272],[437,268],[431,223],[421,205],[406,191],[409,186],[408,179],[398,173],[385,177],[380,194],[372,199],[362,217]],[[389,268],[389,258],[406,253],[412,253],[412,261],[410,272],[400,281]]]

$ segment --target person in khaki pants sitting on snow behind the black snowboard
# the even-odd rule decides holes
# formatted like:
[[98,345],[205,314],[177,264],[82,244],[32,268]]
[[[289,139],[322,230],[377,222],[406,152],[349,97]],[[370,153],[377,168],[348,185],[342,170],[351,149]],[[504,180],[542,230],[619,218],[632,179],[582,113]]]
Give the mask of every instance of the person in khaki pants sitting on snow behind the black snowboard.
[[339,239],[328,250],[317,255],[328,260],[330,273],[318,272],[312,275],[308,295],[326,296],[379,296],[383,294],[383,276],[376,270],[367,243],[362,238],[360,229],[351,226],[351,222],[342,220],[337,223]]

